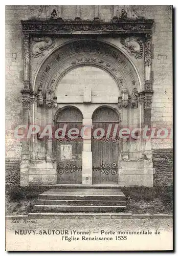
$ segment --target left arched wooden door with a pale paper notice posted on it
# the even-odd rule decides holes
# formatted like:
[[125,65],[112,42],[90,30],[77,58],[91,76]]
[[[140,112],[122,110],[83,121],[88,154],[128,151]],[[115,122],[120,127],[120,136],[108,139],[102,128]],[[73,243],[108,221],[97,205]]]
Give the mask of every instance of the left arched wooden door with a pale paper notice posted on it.
[[67,106],[57,113],[59,138],[56,140],[55,154],[59,184],[82,184],[83,140],[79,135],[82,119],[80,110],[73,106]]

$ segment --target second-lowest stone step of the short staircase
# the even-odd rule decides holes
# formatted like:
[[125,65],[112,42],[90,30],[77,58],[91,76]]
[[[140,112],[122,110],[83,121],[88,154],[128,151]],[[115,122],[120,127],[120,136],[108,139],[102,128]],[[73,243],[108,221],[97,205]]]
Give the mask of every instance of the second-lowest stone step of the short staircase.
[[49,199],[38,199],[36,200],[37,205],[108,205],[108,206],[125,206],[125,200],[122,201],[104,201],[104,200],[49,200]]

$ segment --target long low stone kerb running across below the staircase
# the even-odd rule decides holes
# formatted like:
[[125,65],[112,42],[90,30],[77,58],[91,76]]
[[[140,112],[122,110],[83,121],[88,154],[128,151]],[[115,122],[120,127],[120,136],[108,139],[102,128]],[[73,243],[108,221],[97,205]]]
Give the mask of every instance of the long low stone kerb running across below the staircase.
[[62,212],[39,212],[28,215],[10,215],[6,220],[23,219],[172,219],[171,214],[115,214],[115,213],[62,213]]

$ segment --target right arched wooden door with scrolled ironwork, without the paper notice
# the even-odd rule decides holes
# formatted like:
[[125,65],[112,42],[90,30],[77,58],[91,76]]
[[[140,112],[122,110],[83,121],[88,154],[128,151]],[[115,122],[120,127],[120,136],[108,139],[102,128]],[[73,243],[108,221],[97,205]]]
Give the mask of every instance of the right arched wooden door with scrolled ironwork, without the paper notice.
[[[117,126],[116,126],[117,125]],[[102,108],[94,113],[92,136],[93,184],[118,184],[119,139],[113,138],[119,125],[117,113]],[[102,138],[94,138],[96,129],[104,129]],[[107,131],[110,130],[110,134]],[[98,134],[99,135],[99,134]]]

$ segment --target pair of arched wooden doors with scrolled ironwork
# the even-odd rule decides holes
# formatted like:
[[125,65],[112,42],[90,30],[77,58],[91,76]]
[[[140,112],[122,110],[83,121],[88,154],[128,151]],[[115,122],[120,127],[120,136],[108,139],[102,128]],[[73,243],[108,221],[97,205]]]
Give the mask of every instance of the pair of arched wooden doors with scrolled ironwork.
[[[66,125],[66,131],[64,138],[55,142],[57,183],[82,184],[82,119],[81,112],[75,108],[59,112],[56,129],[63,129]],[[118,184],[119,139],[115,136],[119,126],[118,114],[113,109],[102,107],[94,112],[92,119],[92,183]],[[77,139],[68,136],[68,132],[74,129],[79,131]],[[58,135],[61,133],[62,130]]]

